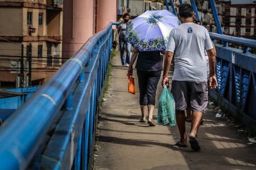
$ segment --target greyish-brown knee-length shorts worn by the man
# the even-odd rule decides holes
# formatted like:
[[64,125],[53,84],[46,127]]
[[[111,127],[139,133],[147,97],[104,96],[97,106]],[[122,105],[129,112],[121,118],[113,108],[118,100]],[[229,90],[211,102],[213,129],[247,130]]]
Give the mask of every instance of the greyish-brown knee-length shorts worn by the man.
[[208,103],[207,81],[172,81],[176,110],[204,111]]

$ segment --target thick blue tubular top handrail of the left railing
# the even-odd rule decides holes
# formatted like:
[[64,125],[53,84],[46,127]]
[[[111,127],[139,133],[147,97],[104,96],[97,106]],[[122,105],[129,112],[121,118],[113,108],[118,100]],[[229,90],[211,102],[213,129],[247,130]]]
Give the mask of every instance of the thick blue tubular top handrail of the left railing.
[[[97,46],[103,42],[106,35],[112,34],[112,25],[116,24],[118,23],[110,23],[106,29],[88,39],[51,80],[47,81],[19,110],[13,113],[12,117],[1,125],[0,169],[26,169],[63,104],[66,102],[68,108],[72,110],[72,104],[68,104],[68,101],[72,101],[68,99],[70,92],[77,81],[83,81],[84,66],[90,64],[90,57],[95,50],[97,52]],[[108,46],[111,44],[112,35],[109,38]],[[110,49],[111,47],[105,53],[108,55],[106,57],[109,57]],[[98,74],[106,74],[106,63],[102,62],[100,66],[104,69]],[[99,88],[101,87],[102,84]]]

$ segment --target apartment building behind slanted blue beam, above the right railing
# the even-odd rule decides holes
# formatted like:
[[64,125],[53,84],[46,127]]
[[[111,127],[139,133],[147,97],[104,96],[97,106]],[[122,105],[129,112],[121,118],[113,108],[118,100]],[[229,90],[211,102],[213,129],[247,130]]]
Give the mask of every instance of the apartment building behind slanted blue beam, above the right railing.
[[[217,32],[209,1],[197,3],[202,24],[211,32]],[[216,1],[221,27],[224,34],[256,39],[256,4],[249,1]]]

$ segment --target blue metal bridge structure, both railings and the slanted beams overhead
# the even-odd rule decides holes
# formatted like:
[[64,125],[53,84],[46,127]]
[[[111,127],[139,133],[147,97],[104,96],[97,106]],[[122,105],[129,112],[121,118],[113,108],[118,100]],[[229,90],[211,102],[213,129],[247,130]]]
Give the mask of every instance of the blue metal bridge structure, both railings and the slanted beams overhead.
[[[214,0],[209,2],[218,30],[210,36],[217,51],[219,84],[209,95],[242,124],[256,129],[256,55],[249,52],[256,48],[256,41],[224,35]],[[177,14],[173,1],[169,3]],[[195,0],[191,4],[200,19]],[[0,169],[91,169],[97,114],[111,58],[112,25],[116,24],[109,23],[89,38],[1,125]]]

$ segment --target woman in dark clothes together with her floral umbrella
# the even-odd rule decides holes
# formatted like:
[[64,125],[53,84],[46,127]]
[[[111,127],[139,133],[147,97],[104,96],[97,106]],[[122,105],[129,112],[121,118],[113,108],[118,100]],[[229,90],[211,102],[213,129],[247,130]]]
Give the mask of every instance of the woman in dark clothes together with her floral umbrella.
[[170,31],[178,25],[178,18],[167,10],[146,11],[127,23],[125,39],[134,46],[128,74],[133,74],[135,60],[140,89],[140,122],[155,126],[153,120],[157,83],[163,69],[160,52],[164,53]]

